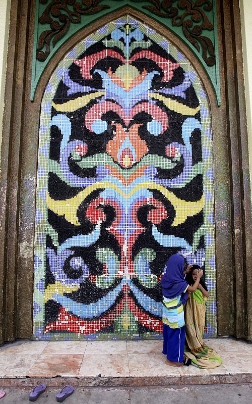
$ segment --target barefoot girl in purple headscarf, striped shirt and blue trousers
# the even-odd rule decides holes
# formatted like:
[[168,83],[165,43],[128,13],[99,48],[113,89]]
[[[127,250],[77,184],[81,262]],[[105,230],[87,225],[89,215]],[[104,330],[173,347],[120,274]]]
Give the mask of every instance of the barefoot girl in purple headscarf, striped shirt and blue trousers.
[[[184,354],[184,312],[187,292],[195,292],[203,271],[199,270],[193,286],[184,280],[184,258],[172,255],[166,263],[166,272],[161,279],[163,292],[163,354],[166,365],[179,368],[183,366]],[[187,268],[188,270],[188,268]],[[187,272],[187,271],[186,271]]]

